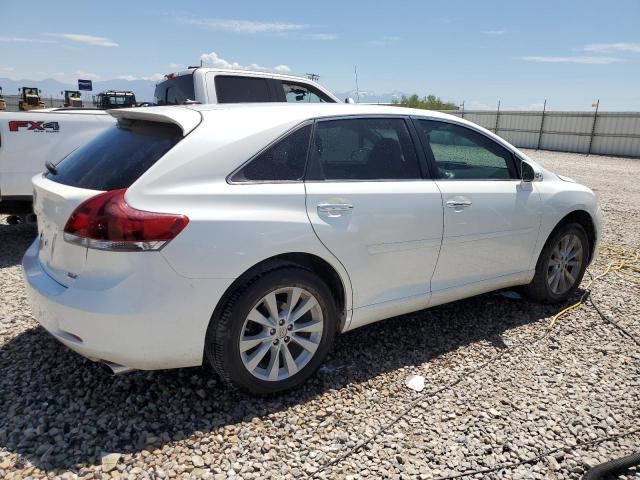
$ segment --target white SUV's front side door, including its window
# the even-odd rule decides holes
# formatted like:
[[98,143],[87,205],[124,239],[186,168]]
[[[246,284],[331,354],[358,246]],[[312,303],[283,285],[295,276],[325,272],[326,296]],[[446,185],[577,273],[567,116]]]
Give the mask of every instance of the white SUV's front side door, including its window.
[[465,125],[415,120],[444,204],[442,249],[432,292],[529,270],[540,196],[520,180],[514,155]]

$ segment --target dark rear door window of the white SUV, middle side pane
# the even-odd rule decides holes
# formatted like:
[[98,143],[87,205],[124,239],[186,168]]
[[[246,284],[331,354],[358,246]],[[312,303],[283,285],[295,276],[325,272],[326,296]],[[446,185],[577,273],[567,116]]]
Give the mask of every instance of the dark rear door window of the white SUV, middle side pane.
[[421,178],[418,156],[402,118],[319,121],[308,170],[307,180]]

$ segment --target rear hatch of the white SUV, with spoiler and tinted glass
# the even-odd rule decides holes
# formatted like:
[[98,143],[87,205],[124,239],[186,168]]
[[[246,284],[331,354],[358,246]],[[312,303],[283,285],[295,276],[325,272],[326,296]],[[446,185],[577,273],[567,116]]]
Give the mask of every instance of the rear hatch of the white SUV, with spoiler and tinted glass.
[[200,114],[194,111],[183,113],[181,122],[162,112],[142,110],[147,109],[129,114],[119,110],[114,114],[117,126],[57,165],[49,164],[48,172],[33,179],[38,257],[44,270],[62,285],[72,284],[87,261],[85,246],[64,239],[65,225],[74,210],[102,192],[129,188],[200,121]]

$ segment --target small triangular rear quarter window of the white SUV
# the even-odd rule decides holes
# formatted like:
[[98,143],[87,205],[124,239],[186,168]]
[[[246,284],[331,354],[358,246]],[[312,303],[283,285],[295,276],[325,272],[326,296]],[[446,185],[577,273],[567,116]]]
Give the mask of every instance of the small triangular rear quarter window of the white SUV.
[[233,174],[240,182],[295,182],[304,176],[311,124],[298,128]]

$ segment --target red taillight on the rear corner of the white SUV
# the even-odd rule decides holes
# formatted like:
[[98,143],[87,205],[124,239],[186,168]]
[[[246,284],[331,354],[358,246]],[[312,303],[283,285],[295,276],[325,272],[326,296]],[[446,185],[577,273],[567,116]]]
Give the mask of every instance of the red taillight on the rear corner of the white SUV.
[[159,250],[189,223],[184,215],[147,212],[127,205],[126,191],[101,193],[78,205],[64,227],[64,239],[100,250]]

